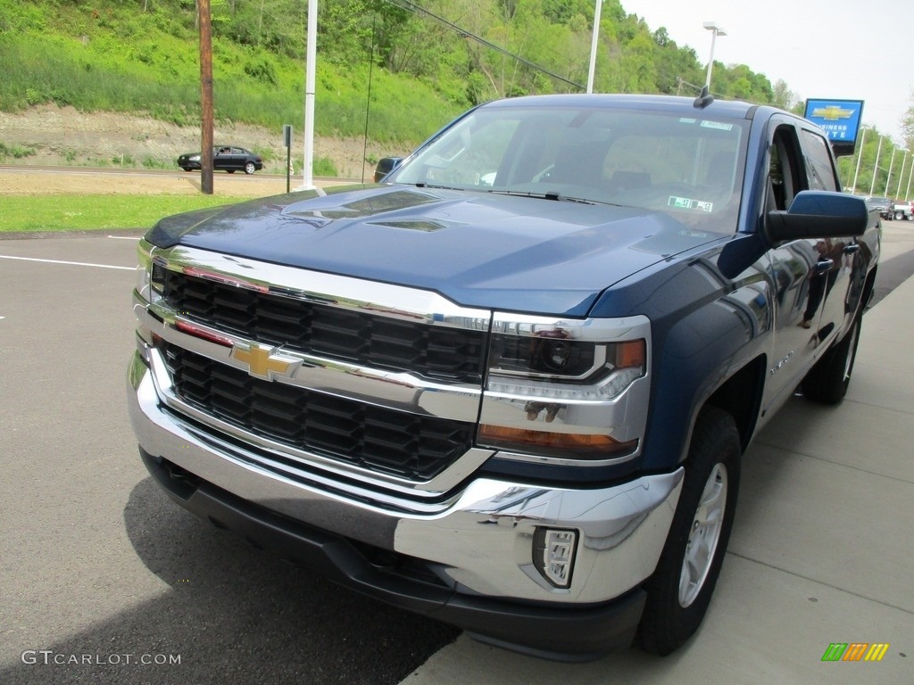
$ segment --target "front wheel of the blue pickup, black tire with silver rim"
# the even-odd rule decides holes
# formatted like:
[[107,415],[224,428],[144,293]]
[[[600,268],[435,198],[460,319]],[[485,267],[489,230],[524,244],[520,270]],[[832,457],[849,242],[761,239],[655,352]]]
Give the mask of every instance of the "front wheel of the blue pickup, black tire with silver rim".
[[705,617],[733,527],[740,454],[733,417],[705,407],[696,421],[664,552],[644,586],[647,602],[635,638],[644,651],[670,654]]

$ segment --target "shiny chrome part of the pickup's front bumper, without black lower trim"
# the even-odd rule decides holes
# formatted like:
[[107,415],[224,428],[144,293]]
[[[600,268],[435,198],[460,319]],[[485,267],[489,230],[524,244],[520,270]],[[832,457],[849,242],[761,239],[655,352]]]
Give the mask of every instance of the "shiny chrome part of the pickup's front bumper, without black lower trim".
[[[682,487],[682,469],[597,490],[478,478],[438,501],[416,501],[318,470],[313,479],[290,479],[264,468],[237,441],[167,410],[139,353],[128,374],[128,404],[140,447],[152,458],[239,501],[422,560],[442,586],[466,597],[568,608],[625,595],[654,572]],[[549,585],[534,566],[534,538],[542,527],[579,533],[568,588]]]

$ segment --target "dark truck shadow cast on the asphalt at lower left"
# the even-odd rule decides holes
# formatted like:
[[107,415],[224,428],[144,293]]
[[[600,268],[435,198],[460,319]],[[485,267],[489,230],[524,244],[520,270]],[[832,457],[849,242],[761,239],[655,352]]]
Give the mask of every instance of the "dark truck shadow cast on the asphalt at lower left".
[[[168,501],[151,478],[134,487],[123,518],[143,564],[168,587],[36,646],[51,655],[0,669],[0,682],[397,683],[460,633],[251,548]],[[166,663],[140,664],[143,655]],[[167,663],[175,656],[179,664]]]

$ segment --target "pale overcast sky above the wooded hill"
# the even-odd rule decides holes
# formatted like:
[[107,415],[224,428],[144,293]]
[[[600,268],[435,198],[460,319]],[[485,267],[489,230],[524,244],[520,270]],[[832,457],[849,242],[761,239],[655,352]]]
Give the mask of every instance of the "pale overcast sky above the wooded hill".
[[900,121],[914,106],[909,0],[622,0],[622,7],[652,31],[665,26],[702,65],[711,53],[702,25],[713,21],[727,33],[717,37],[716,62],[745,64],[772,86],[782,79],[801,101],[864,100],[864,124],[902,144]]

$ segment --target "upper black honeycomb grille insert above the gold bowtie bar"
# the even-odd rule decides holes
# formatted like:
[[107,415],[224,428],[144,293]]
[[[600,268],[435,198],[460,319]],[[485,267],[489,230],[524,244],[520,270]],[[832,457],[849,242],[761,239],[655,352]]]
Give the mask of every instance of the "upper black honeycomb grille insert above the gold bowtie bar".
[[166,269],[165,300],[246,339],[327,359],[480,385],[485,333],[235,287]]

